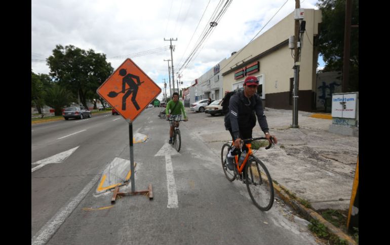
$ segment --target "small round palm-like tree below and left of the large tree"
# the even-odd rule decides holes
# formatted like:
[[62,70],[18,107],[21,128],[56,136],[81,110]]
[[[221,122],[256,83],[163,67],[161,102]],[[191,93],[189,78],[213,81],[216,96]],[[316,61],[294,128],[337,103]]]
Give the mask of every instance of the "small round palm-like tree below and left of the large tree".
[[59,84],[54,84],[46,90],[45,102],[46,105],[54,108],[54,115],[61,116],[62,109],[69,105],[74,100],[74,97],[65,88]]

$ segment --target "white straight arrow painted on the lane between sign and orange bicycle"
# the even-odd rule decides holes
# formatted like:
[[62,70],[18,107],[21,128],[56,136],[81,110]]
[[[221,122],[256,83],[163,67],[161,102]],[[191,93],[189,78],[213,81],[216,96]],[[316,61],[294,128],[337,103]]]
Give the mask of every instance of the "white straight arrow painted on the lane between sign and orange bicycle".
[[167,189],[168,189],[167,208],[177,209],[179,206],[177,201],[176,183],[175,183],[175,177],[173,175],[171,155],[180,155],[180,153],[176,152],[176,150],[173,150],[172,145],[170,145],[169,143],[165,143],[163,147],[159,150],[159,152],[154,156],[155,157],[165,156],[165,170],[167,172]]

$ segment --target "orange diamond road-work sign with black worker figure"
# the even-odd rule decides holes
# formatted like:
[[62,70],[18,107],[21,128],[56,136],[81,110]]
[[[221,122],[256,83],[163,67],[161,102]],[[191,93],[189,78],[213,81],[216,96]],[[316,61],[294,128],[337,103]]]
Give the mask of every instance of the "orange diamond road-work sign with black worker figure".
[[134,121],[161,93],[161,88],[131,59],[126,59],[96,92],[125,119]]

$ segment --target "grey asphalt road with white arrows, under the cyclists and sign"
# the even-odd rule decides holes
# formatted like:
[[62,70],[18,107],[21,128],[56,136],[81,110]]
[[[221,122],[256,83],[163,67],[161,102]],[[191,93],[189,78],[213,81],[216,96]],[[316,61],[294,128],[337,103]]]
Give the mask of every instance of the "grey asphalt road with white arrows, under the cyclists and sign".
[[[32,244],[317,244],[307,222],[281,201],[261,212],[244,184],[225,178],[220,153],[197,135],[199,124],[208,127],[208,115],[188,113],[177,153],[167,145],[168,122],[159,112],[146,109],[133,123],[133,132],[147,135],[134,144],[135,189],[152,184],[151,201],[123,197],[111,205],[112,192],[95,194],[112,160],[130,159],[129,126],[122,116],[31,126],[31,163],[78,146],[62,162],[31,172]],[[162,148],[167,154],[158,154]]]

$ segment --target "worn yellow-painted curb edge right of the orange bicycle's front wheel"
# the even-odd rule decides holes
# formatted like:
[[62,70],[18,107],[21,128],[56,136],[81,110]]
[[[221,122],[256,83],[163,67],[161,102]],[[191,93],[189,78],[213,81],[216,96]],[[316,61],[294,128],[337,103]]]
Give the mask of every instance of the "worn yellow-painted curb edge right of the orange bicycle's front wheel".
[[342,230],[334,226],[332,223],[328,222],[326,219],[324,219],[320,214],[318,214],[316,211],[311,210],[297,202],[297,200],[290,198],[290,195],[286,193],[285,190],[288,190],[284,186],[280,184],[274,184],[275,192],[279,195],[279,197],[290,207],[292,207],[296,212],[301,214],[303,217],[305,217],[307,220],[315,219],[319,221],[320,223],[324,224],[329,232],[332,234],[338,236],[340,239],[344,239],[348,242],[349,245],[356,245],[356,241],[350,237],[349,235],[345,234]]

